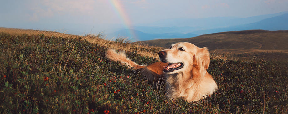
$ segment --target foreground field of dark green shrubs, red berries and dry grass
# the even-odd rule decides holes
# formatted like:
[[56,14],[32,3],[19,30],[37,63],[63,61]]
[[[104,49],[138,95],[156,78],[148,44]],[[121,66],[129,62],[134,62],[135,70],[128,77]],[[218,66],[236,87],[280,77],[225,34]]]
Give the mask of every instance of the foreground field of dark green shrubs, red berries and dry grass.
[[288,61],[212,58],[208,72],[218,91],[187,103],[107,61],[112,45],[126,46],[139,64],[157,61],[121,39],[0,32],[0,113],[288,113]]

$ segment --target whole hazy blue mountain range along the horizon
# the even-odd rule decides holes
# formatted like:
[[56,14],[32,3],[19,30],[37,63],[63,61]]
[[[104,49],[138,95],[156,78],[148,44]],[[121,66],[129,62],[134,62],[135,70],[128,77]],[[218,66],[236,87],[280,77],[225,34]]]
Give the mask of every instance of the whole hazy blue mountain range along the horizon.
[[[120,29],[116,32],[108,33],[107,38],[128,37],[132,38],[132,41],[144,41],[167,38],[189,38],[203,34],[225,31],[253,29],[288,30],[287,20],[288,12],[259,15],[247,18],[174,18],[146,24],[154,26],[133,26],[133,29]],[[133,38],[134,36],[132,36],[130,33],[136,34],[137,38]]]

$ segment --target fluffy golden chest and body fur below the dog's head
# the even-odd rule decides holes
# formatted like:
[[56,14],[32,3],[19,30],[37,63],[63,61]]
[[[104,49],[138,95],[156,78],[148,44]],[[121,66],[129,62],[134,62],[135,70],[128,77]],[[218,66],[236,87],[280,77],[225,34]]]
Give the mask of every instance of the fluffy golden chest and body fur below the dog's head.
[[[198,101],[205,99],[217,89],[215,81],[209,78],[205,80],[193,79],[192,76],[183,76],[189,74],[175,73],[165,74],[167,96],[170,99],[183,97],[186,101]],[[191,74],[190,74],[191,75]],[[190,77],[184,79],[184,77]]]

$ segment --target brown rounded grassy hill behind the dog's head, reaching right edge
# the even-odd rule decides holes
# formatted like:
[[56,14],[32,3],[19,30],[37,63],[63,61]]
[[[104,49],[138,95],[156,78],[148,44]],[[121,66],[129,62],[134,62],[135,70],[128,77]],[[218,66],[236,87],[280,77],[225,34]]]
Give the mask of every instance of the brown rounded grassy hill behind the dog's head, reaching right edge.
[[[278,59],[288,58],[288,31],[246,30],[206,34],[184,39],[157,39],[136,43],[168,48],[177,42],[190,42],[199,47],[207,47],[213,53],[234,55],[234,57],[279,55]],[[226,55],[227,56],[227,55]],[[277,57],[277,56],[276,56]]]

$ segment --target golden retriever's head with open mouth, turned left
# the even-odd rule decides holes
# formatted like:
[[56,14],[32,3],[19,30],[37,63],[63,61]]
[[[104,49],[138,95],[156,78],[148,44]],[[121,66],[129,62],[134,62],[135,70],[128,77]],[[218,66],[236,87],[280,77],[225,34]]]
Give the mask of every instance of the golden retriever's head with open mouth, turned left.
[[164,66],[163,70],[167,74],[192,70],[193,68],[204,71],[208,69],[210,63],[207,48],[199,48],[188,42],[172,44],[170,49],[162,50],[158,54],[162,62],[169,63]]

